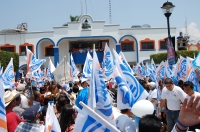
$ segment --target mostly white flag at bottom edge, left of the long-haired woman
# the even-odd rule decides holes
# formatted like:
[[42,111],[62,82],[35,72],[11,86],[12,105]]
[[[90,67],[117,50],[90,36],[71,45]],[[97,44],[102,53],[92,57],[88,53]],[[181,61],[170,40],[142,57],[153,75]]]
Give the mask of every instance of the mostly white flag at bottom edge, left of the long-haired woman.
[[46,119],[45,119],[45,132],[61,132],[60,124],[54,113],[53,104],[48,104]]

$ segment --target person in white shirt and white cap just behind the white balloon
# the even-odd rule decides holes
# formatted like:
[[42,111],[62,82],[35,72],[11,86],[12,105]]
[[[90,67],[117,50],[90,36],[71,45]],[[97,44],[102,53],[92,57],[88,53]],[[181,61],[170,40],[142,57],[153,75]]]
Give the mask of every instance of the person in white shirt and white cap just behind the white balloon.
[[149,89],[150,89],[148,100],[154,106],[153,115],[156,115],[156,109],[157,109],[157,104],[158,104],[156,84],[154,82],[150,82],[150,83],[148,83],[148,85],[149,85]]

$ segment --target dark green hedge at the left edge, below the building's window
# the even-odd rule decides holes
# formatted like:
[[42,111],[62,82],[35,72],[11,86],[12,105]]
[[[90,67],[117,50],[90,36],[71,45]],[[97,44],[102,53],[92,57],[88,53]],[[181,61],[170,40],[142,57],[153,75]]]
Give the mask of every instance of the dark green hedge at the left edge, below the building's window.
[[14,71],[16,72],[19,70],[19,54],[0,50],[0,63],[4,70],[10,62],[11,57],[13,58]]

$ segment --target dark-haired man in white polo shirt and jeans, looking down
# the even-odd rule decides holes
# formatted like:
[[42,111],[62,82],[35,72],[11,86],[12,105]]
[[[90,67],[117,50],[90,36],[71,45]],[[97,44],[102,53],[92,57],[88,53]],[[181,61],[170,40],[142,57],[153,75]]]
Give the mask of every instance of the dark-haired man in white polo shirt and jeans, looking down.
[[[162,110],[165,105],[165,101],[167,101],[168,111],[166,119],[168,131],[171,132],[178,120],[180,105],[186,98],[186,94],[180,87],[174,85],[171,78],[166,78],[164,83],[165,87],[162,90],[160,109]],[[161,115],[160,112],[159,115]]]

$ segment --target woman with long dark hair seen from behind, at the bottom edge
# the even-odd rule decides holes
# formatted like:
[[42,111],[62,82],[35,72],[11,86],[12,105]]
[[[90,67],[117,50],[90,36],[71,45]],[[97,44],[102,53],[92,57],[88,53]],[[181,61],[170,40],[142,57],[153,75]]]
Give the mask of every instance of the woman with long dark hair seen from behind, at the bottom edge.
[[72,106],[65,105],[60,115],[61,132],[73,132],[77,112]]

